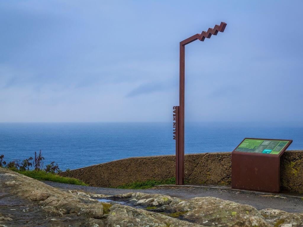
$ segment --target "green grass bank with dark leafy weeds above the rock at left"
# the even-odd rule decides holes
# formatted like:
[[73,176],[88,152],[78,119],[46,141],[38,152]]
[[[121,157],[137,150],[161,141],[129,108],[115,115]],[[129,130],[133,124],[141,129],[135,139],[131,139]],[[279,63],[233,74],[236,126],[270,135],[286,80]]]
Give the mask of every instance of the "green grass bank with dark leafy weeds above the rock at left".
[[12,171],[21,173],[36,180],[46,180],[58,183],[88,186],[79,179],[58,175],[58,173],[61,173],[62,171],[59,168],[58,164],[55,162],[51,162],[50,164],[46,165],[45,168],[43,168],[44,157],[42,156],[41,150],[39,151],[39,153],[35,152],[34,158],[29,157],[28,159],[22,160],[22,162],[20,162],[20,160],[15,159],[9,163],[6,163],[3,158],[4,155],[2,154],[0,156],[0,167],[8,168]]

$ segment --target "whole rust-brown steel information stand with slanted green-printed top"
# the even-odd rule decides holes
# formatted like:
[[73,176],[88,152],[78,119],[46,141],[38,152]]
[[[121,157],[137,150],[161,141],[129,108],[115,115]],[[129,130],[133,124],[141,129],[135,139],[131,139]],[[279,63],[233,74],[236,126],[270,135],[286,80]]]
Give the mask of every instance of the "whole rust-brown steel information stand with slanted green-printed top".
[[[252,143],[251,147],[246,143],[249,140],[257,142]],[[291,142],[292,140],[245,138],[231,153],[231,187],[279,192],[280,157]]]

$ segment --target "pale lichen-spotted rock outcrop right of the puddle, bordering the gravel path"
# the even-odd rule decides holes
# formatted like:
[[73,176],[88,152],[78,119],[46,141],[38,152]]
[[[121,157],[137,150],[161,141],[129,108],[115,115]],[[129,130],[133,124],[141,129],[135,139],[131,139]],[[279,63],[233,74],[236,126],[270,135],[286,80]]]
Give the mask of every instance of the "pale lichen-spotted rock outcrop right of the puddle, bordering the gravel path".
[[[175,214],[183,220],[204,226],[221,227],[302,227],[303,213],[288,213],[275,209],[258,211],[253,206],[218,199],[196,197],[181,199],[161,194],[130,192],[112,196],[136,206],[155,206],[153,211]],[[164,201],[164,202],[163,202]],[[132,208],[133,209],[133,208]]]

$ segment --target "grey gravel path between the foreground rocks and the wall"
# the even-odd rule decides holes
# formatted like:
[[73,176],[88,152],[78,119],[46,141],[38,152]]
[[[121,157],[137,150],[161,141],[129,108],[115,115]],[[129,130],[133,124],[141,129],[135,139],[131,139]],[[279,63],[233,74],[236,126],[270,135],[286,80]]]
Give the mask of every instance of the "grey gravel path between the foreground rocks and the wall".
[[115,188],[99,188],[90,186],[79,186],[72,184],[63,184],[56,182],[44,181],[44,183],[64,189],[86,191],[95,194],[117,195],[127,192],[143,192],[148,194],[163,194],[174,196],[180,199],[190,199],[193,197],[214,196],[220,199],[230,200],[241,204],[248,204],[257,209],[273,208],[284,210],[287,212],[303,212],[303,200],[298,198],[261,196],[251,192],[237,192],[213,188],[160,188],[160,189],[115,189]]

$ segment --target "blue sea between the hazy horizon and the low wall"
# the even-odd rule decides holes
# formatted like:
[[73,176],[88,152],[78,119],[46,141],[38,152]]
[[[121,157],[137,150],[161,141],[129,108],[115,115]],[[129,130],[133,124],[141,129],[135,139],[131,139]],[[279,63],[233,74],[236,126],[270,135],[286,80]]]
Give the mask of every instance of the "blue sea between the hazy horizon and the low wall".
[[[172,132],[172,123],[0,123],[0,155],[8,162],[42,150],[45,164],[76,169],[174,154]],[[231,152],[245,137],[291,139],[288,150],[303,149],[303,127],[294,124],[186,123],[185,153]]]

